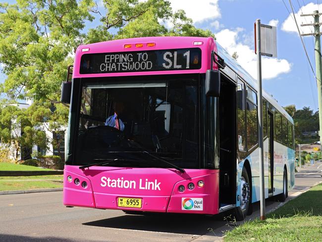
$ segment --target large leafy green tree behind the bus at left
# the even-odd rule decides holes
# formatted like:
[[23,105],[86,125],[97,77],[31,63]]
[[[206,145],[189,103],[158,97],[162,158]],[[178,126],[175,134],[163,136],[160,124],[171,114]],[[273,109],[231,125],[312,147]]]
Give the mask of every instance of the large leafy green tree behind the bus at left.
[[[95,17],[100,24],[86,30]],[[7,75],[0,93],[6,93],[11,103],[25,98],[35,101],[26,111],[12,111],[15,116],[9,111],[14,106],[1,113],[7,122],[25,122],[23,137],[15,139],[17,149],[23,142],[59,146],[59,140],[45,139],[44,132],[67,125],[68,106],[59,103],[60,85],[79,45],[165,35],[214,37],[209,30],[196,28],[183,10],[172,12],[167,0],[103,0],[103,9],[93,0],[0,3],[0,63]],[[0,128],[2,142],[12,142],[9,130],[5,125]]]

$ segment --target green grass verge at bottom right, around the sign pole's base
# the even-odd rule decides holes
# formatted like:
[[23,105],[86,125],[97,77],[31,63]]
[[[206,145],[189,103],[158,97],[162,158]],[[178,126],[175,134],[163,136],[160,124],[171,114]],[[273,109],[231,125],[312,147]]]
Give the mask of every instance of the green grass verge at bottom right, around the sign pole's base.
[[226,233],[225,242],[322,241],[322,184],[269,213]]

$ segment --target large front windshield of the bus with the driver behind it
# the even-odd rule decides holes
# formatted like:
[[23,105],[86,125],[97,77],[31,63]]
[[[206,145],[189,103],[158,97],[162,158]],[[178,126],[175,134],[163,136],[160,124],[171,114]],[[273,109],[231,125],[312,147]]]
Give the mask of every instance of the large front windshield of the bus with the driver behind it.
[[107,166],[166,167],[148,152],[199,168],[198,113],[198,80],[89,79],[81,89],[75,163],[117,159],[122,162]]

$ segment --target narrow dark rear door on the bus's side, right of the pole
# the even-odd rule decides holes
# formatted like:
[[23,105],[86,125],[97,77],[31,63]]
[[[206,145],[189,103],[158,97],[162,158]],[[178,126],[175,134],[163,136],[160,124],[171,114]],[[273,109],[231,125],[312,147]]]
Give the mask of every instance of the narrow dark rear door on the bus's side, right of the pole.
[[273,195],[274,128],[273,114],[268,112],[268,196]]

